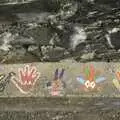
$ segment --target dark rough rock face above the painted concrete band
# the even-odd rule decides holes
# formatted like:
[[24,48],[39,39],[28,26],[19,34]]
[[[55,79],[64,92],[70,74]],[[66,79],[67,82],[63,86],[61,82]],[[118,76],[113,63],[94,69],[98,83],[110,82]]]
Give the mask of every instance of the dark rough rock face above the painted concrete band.
[[116,0],[1,2],[0,60],[11,63],[13,57],[8,56],[13,55],[23,62],[27,54],[31,62],[119,61],[119,4]]

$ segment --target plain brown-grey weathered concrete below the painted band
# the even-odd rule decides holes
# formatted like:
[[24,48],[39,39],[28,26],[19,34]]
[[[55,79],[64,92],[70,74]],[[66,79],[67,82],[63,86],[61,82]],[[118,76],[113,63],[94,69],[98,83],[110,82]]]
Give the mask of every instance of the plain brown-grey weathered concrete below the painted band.
[[115,98],[1,98],[0,120],[119,120]]

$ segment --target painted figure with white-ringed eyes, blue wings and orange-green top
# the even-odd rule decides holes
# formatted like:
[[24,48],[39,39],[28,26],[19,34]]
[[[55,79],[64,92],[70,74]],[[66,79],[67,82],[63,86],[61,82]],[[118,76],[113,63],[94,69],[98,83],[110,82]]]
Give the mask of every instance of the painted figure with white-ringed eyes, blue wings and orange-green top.
[[77,77],[77,81],[79,81],[81,85],[85,86],[85,90],[93,90],[97,88],[97,84],[105,81],[105,77],[96,76],[94,67],[90,65],[85,68],[85,77],[79,76]]

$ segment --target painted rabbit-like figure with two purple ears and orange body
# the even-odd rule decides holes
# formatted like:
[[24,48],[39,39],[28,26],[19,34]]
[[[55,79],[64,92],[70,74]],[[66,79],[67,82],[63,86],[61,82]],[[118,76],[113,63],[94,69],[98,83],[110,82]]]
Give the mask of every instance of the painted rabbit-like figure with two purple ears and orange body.
[[65,82],[62,80],[64,75],[64,69],[59,73],[58,69],[55,71],[54,79],[47,83],[52,96],[61,96],[63,89],[65,88]]

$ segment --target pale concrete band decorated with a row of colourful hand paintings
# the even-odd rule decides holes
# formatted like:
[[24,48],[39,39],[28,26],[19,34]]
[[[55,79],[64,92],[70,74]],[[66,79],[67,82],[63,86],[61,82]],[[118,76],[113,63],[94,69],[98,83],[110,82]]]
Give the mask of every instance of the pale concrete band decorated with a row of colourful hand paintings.
[[105,62],[0,65],[0,97],[120,97],[120,64]]

